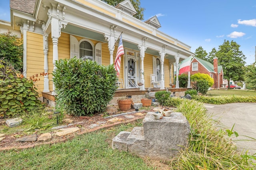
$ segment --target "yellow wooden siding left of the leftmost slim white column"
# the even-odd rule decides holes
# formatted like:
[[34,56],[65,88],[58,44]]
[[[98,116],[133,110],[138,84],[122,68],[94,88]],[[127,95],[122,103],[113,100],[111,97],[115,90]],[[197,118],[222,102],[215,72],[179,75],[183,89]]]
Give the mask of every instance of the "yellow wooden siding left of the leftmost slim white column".
[[27,78],[35,74],[38,75],[39,81],[35,82],[39,96],[44,90],[44,77],[40,76],[40,72],[44,72],[44,51],[43,51],[43,36],[41,34],[27,32]]

